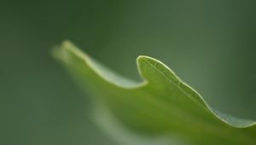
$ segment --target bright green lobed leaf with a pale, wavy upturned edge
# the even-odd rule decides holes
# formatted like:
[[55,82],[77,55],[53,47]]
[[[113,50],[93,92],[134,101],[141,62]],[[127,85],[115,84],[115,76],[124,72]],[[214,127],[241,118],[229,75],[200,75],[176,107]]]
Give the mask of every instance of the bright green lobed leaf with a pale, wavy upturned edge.
[[[134,132],[138,137],[147,136],[145,142],[148,137],[151,141],[167,136],[164,138],[180,141],[176,144],[256,144],[255,121],[238,119],[210,107],[198,92],[154,58],[137,57],[138,72],[143,81],[135,82],[113,73],[67,41],[54,49],[53,54],[73,78],[95,96],[92,99],[97,122],[113,136],[115,131],[121,131],[108,127],[117,124],[109,121],[112,119],[123,125],[123,131]],[[106,115],[106,110],[111,115]],[[131,132],[129,136],[133,134]],[[116,133],[116,137],[122,138],[118,137],[121,134]],[[172,143],[167,141],[166,144]]]

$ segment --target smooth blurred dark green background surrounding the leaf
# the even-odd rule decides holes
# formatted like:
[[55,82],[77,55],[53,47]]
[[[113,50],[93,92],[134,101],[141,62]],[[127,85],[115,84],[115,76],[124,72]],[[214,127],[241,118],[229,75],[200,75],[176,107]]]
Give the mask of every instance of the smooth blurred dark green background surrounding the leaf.
[[114,143],[49,53],[64,39],[132,79],[153,56],[212,107],[256,119],[255,2],[1,1],[0,144]]

